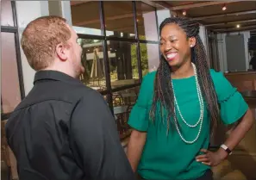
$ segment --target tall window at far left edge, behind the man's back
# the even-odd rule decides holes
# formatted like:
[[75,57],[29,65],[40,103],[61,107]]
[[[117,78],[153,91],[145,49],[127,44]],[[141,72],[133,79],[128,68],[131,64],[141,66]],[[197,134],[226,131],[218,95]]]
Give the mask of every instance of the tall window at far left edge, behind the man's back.
[[16,2],[3,0],[1,22],[1,117],[8,119],[24,97],[22,81],[21,57],[18,45],[18,29],[16,27]]

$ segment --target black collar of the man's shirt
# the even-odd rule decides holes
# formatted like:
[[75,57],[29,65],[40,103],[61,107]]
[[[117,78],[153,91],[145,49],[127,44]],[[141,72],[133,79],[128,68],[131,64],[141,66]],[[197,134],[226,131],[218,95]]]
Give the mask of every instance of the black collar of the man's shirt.
[[72,78],[71,76],[60,71],[37,71],[34,75],[34,84],[41,80],[55,80],[66,83],[82,84],[79,79]]

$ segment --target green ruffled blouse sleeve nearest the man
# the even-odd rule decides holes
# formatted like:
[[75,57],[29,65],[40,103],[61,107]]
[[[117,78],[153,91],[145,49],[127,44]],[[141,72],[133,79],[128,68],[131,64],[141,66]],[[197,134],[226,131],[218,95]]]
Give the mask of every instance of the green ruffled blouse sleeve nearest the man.
[[147,74],[140,85],[140,93],[129,115],[128,125],[138,131],[147,132],[149,101],[153,92],[153,75]]

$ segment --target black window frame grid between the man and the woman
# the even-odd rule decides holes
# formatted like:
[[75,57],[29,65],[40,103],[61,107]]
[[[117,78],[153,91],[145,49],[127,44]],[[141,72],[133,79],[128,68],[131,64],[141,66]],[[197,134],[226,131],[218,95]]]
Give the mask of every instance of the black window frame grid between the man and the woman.
[[[104,16],[104,6],[103,1],[99,1],[99,11],[100,11],[100,24],[101,24],[101,34],[102,35],[91,35],[91,34],[78,34],[78,38],[81,39],[91,39],[91,40],[103,40],[103,61],[104,61],[104,68],[105,68],[105,79],[106,79],[106,88],[107,90],[100,91],[102,95],[107,95],[107,102],[109,103],[109,109],[111,110],[112,114],[114,115],[114,107],[113,107],[113,93],[119,91],[119,90],[128,90],[130,88],[134,88],[137,86],[140,86],[142,82],[142,70],[141,70],[141,57],[140,57],[140,43],[145,44],[158,44],[159,45],[159,22],[158,22],[158,16],[157,16],[157,8],[147,4],[148,6],[153,7],[156,17],[156,28],[157,28],[157,34],[158,34],[158,40],[140,40],[139,32],[138,32],[138,22],[137,20],[137,10],[136,10],[136,2],[132,1],[133,3],[133,14],[134,14],[134,34],[135,38],[122,38],[122,37],[109,37],[106,35],[106,28],[105,28],[105,16]],[[145,2],[141,2],[145,3]],[[137,55],[137,66],[138,66],[138,72],[139,72],[139,81],[138,84],[128,84],[124,85],[122,87],[118,88],[112,88],[111,87],[111,79],[110,79],[110,73],[109,73],[109,57],[108,57],[108,46],[107,41],[108,40],[115,40],[115,41],[125,41],[125,42],[132,42],[136,44],[136,55]],[[160,58],[160,53],[159,53]]]

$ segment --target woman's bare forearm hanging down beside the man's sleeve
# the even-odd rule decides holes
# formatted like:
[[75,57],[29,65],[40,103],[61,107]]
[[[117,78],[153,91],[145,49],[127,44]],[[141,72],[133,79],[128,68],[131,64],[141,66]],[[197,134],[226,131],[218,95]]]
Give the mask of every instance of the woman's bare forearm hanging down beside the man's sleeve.
[[130,140],[128,142],[127,156],[134,172],[137,170],[146,139],[147,132],[133,130],[131,133]]

